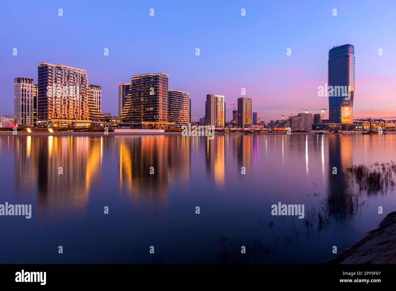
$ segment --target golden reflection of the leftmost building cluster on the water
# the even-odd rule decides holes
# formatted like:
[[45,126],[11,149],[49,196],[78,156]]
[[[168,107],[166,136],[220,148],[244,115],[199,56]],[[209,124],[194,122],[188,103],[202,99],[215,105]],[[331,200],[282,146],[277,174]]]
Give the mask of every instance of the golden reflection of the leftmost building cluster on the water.
[[101,180],[103,137],[28,136],[15,142],[17,190],[29,193],[37,188],[39,213],[86,206],[92,185]]

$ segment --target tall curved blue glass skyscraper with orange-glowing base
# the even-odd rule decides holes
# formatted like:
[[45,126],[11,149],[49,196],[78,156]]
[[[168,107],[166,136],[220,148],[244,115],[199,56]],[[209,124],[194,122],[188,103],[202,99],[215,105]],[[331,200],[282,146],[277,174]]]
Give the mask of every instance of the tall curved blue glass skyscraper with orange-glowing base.
[[351,44],[329,50],[328,61],[329,122],[353,122],[355,91],[355,50]]

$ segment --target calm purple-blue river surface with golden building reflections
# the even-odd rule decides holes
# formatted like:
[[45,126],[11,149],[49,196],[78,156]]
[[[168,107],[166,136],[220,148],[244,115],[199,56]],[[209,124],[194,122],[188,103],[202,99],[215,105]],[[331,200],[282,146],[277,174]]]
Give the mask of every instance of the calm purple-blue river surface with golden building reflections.
[[0,204],[32,204],[32,218],[0,217],[0,263],[217,263],[235,238],[270,249],[249,262],[325,262],[396,210],[394,192],[353,189],[364,205],[322,228],[271,205],[307,218],[350,191],[346,167],[395,159],[396,135],[2,136]]

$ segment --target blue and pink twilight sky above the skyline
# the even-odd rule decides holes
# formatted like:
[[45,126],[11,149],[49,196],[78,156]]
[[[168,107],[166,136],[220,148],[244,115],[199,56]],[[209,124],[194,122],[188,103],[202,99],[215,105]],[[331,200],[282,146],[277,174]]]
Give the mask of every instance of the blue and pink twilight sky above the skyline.
[[[0,115],[14,114],[14,78],[36,82],[37,63],[47,61],[85,68],[89,83],[102,86],[103,112],[118,113],[118,83],[132,75],[164,72],[169,89],[190,93],[192,120],[204,115],[206,94],[225,95],[226,120],[232,119],[230,103],[236,103],[244,87],[253,111],[268,122],[302,112],[300,108],[328,108],[327,97],[318,97],[318,86],[327,83],[328,51],[352,44],[354,118],[396,118],[395,1],[52,0],[1,5]],[[59,8],[63,16],[58,16]]]

